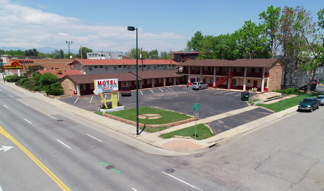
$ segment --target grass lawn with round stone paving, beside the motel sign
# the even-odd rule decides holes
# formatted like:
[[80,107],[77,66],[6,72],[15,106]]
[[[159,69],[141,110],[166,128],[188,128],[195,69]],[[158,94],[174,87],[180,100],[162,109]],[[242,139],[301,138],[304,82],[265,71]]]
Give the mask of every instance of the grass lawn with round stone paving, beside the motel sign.
[[[157,119],[138,119],[139,123],[143,124],[167,124],[167,123],[172,123],[172,122],[178,122],[186,119],[190,119],[191,117],[186,115],[186,114],[181,114],[177,113],[174,111],[167,111],[167,110],[162,110],[159,108],[155,107],[139,107],[138,108],[138,114],[159,114],[162,117],[157,118]],[[136,108],[128,109],[128,110],[122,110],[122,111],[114,111],[114,112],[109,112],[109,114],[131,120],[136,122]],[[146,128],[145,128],[146,130]]]

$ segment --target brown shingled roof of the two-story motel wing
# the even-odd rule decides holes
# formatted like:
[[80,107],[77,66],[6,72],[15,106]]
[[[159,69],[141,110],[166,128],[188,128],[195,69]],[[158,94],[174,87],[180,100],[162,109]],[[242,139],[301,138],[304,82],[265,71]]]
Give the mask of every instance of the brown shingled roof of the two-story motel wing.
[[284,63],[280,59],[236,59],[236,60],[222,60],[222,59],[206,59],[206,60],[187,60],[179,63],[179,66],[218,66],[218,67],[267,67],[272,64]]

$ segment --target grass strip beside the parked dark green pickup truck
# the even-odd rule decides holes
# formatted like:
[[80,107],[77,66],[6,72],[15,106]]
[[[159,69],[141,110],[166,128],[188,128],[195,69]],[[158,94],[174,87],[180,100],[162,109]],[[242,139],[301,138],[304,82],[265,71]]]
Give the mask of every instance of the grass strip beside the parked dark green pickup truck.
[[272,110],[274,112],[279,112],[279,111],[283,111],[285,109],[294,107],[295,105],[298,105],[300,103],[300,101],[302,101],[304,98],[316,98],[318,95],[322,95],[321,93],[311,93],[311,94],[300,94],[297,95],[296,97],[292,97],[289,99],[284,99],[282,102],[282,109],[280,110],[280,106],[281,106],[281,100],[278,102],[274,102],[271,104],[263,104],[263,103],[258,103],[256,104],[257,106],[260,107],[264,107],[267,108],[269,110]]

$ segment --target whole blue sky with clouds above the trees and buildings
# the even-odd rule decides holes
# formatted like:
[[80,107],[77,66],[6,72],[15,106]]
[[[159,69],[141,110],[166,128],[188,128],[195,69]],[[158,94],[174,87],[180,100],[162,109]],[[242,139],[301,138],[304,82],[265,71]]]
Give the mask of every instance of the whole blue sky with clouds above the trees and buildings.
[[304,6],[317,21],[323,0],[246,1],[45,1],[0,0],[0,47],[70,49],[80,45],[100,51],[126,52],[136,46],[150,51],[178,51],[194,33],[233,33],[244,21],[259,23],[267,7]]

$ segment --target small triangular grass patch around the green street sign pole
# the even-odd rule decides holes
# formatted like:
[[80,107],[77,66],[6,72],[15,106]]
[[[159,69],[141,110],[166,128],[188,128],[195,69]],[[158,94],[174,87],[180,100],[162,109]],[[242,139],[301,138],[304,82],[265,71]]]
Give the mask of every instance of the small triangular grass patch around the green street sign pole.
[[[168,138],[173,137],[174,135],[191,137],[194,139],[195,138],[195,125],[193,125],[191,127],[179,129],[177,131],[173,131],[170,133],[162,134],[162,135],[160,135],[160,137],[163,139],[168,139]],[[210,129],[205,124],[203,124],[203,123],[197,124],[197,135],[196,135],[197,140],[207,139],[212,136],[214,136],[214,134],[210,131]]]

